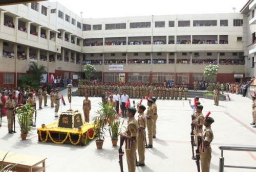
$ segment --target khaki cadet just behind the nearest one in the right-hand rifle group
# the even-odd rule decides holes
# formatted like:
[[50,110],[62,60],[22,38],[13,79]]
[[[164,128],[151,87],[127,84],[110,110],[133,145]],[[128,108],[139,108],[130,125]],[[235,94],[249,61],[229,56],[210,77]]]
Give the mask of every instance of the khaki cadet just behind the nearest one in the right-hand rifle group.
[[204,125],[204,115],[202,114],[203,110],[202,105],[198,105],[196,107],[196,113],[192,115],[192,118],[194,119],[192,121],[192,124],[195,125],[195,144],[197,144],[197,136],[199,133],[203,134],[203,125]]

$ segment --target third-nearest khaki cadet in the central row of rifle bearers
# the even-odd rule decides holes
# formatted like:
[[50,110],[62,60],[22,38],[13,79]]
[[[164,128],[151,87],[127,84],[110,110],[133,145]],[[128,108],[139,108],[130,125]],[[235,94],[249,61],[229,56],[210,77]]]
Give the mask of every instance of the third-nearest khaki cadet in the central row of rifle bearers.
[[152,104],[154,101],[152,99],[147,100],[147,112],[146,112],[146,126],[147,126],[147,136],[148,136],[148,145],[146,148],[153,148],[153,126],[154,126],[154,110]]

